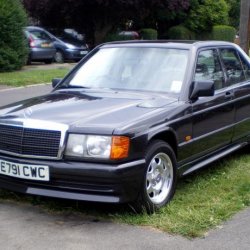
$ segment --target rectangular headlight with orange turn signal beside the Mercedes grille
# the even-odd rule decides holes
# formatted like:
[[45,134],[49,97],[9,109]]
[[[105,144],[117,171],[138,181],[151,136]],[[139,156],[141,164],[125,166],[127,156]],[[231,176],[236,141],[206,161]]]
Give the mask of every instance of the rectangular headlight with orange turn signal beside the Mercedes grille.
[[129,138],[70,134],[65,155],[99,159],[122,159],[128,156]]

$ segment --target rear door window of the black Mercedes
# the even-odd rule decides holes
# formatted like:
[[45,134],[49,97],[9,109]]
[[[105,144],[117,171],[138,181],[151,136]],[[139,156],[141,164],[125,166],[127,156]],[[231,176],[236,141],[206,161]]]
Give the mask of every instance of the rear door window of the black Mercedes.
[[241,61],[234,49],[221,49],[221,58],[227,74],[227,84],[232,85],[245,81]]

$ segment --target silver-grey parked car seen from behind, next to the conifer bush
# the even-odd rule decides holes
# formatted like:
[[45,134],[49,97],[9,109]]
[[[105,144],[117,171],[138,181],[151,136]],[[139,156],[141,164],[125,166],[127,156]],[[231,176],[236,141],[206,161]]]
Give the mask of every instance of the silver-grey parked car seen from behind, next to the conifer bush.
[[52,63],[56,49],[51,38],[40,30],[32,29],[32,27],[26,27],[24,34],[29,46],[27,63],[30,64],[32,61]]

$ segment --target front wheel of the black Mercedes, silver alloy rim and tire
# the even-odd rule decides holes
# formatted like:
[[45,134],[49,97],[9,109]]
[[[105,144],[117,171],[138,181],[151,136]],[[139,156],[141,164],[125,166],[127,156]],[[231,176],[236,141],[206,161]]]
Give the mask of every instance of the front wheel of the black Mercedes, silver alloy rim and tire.
[[176,157],[172,148],[161,140],[153,141],[145,154],[143,185],[132,204],[136,212],[154,213],[166,205],[176,189]]

